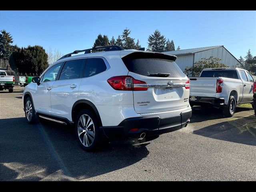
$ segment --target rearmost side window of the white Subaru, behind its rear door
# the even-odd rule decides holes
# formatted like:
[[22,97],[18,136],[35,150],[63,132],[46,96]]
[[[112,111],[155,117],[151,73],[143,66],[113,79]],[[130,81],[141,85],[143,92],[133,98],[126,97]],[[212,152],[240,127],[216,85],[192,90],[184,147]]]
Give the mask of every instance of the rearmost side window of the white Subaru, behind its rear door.
[[106,71],[107,67],[102,58],[88,58],[84,77],[91,77],[96,74],[99,74],[103,71]]

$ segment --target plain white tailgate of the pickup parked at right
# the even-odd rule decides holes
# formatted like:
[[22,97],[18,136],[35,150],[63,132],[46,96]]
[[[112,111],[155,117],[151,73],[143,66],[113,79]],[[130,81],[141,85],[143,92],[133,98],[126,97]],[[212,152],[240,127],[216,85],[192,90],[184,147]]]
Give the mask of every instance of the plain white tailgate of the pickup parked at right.
[[216,77],[194,77],[190,79],[190,96],[216,97]]

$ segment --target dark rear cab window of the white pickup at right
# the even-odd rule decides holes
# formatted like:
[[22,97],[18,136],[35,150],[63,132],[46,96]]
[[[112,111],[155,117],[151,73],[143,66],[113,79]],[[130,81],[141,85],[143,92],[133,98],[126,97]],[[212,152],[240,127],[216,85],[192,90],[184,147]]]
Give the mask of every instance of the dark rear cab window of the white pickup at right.
[[226,77],[226,78],[238,79],[236,70],[203,71],[200,77]]

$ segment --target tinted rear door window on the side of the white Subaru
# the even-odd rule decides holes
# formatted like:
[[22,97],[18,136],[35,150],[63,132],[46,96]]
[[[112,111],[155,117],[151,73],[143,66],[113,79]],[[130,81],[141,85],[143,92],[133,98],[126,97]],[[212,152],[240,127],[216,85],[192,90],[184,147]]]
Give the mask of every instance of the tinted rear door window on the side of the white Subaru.
[[84,68],[85,59],[67,61],[61,71],[59,80],[81,78],[80,74]]

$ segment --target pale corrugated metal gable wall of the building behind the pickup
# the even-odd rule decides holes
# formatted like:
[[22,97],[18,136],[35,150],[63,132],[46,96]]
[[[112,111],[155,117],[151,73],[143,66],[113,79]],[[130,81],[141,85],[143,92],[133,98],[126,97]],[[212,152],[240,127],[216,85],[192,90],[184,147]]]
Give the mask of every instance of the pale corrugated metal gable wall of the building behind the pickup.
[[210,56],[221,58],[221,62],[230,67],[239,64],[239,62],[224,47],[195,53],[194,62],[201,60],[201,58],[209,58]]

